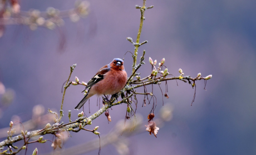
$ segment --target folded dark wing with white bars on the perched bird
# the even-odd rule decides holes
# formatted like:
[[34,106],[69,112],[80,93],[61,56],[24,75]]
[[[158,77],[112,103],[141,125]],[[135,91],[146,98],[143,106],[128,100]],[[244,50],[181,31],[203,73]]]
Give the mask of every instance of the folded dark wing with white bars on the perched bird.
[[[105,68],[104,68],[105,67]],[[95,85],[97,82],[101,81],[104,79],[104,75],[110,71],[110,68],[106,66],[102,67],[93,77],[92,79],[87,83],[87,86],[85,87],[85,90],[88,88],[88,87],[91,87],[93,85]],[[85,91],[83,90],[83,91]],[[82,92],[83,92],[82,91]]]

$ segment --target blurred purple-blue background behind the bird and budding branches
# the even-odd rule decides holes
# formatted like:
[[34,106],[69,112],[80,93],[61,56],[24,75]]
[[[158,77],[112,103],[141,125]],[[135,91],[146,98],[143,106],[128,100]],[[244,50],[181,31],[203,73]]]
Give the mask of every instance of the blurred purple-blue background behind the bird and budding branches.
[[[0,38],[0,130],[1,141],[7,137],[9,121],[30,124],[25,130],[43,128],[51,115],[47,108],[58,111],[61,106],[61,87],[70,74],[70,66],[77,64],[71,80],[77,76],[87,82],[101,66],[114,58],[123,58],[134,46],[126,40],[136,40],[140,23],[140,11],[135,5],[140,1],[88,1],[90,13],[77,22],[63,18],[65,24],[53,30],[38,27],[31,30],[27,25],[7,25]],[[89,5],[86,3],[87,5]],[[75,1],[19,1],[21,11],[38,9],[46,11],[53,7],[65,11],[72,9]],[[146,50],[145,65],[138,71],[141,77],[151,72],[147,61],[149,56],[165,65],[170,74],[179,76],[179,68],[185,75],[195,77],[212,74],[204,90],[204,81],[196,81],[196,97],[193,106],[194,89],[178,81],[168,81],[169,99],[164,98],[164,108],[169,109],[170,121],[156,122],[160,128],[157,138],[149,136],[145,129],[151,105],[141,107],[143,98],[138,98],[138,119],[140,131],[125,131],[121,142],[106,142],[101,154],[256,154],[256,1],[253,0],[147,0],[146,6],[154,8],[145,12],[140,46]],[[76,18],[75,18],[76,19]],[[73,20],[74,21],[74,20]],[[33,29],[33,27],[32,27]],[[131,74],[131,54],[125,56],[125,69]],[[83,86],[67,89],[63,111],[64,122],[76,120],[73,108],[82,99]],[[164,90],[164,84],[161,85]],[[151,89],[151,86],[148,86]],[[143,91],[138,89],[137,92]],[[159,86],[154,85],[157,97],[155,118],[161,118],[162,95]],[[91,113],[99,110],[97,97],[90,100]],[[101,105],[102,107],[102,105]],[[92,130],[100,126],[101,137],[121,128],[127,105],[112,107],[112,122],[101,115],[92,121]],[[85,104],[85,113],[88,103]],[[32,119],[32,120],[31,120]],[[32,122],[29,122],[32,121]],[[116,126],[121,122],[121,127]],[[132,120],[127,120],[132,122]],[[129,126],[129,123],[126,124]],[[16,129],[20,133],[21,129]],[[90,144],[97,154],[99,138],[89,132],[70,133],[63,152],[80,144]],[[67,133],[64,133],[67,135]],[[53,136],[49,135],[48,139]],[[110,139],[113,137],[110,137]],[[31,144],[28,154],[38,148],[40,153],[52,152],[51,143]],[[83,147],[76,149],[76,154]],[[21,152],[20,154],[24,154]],[[53,154],[53,153],[52,153]],[[61,153],[64,154],[64,153]]]

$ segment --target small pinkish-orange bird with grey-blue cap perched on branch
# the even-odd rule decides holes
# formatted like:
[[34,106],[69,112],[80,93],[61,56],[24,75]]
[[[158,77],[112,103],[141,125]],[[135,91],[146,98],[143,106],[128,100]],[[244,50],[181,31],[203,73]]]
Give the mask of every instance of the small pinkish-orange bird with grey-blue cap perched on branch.
[[102,96],[116,94],[125,87],[126,82],[127,73],[125,71],[124,61],[120,58],[115,58],[110,64],[103,66],[91,80],[88,81],[85,87],[85,90],[88,89],[87,94],[75,109],[79,110],[93,95]]

